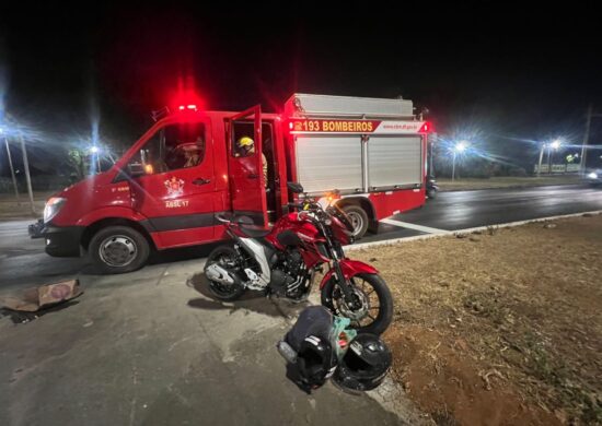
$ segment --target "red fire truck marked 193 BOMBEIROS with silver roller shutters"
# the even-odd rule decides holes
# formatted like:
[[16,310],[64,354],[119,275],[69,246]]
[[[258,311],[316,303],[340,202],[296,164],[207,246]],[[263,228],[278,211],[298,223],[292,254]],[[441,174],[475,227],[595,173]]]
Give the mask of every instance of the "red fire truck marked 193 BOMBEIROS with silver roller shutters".
[[106,273],[134,271],[151,250],[227,238],[219,213],[268,227],[296,197],[287,181],[335,197],[357,238],[425,203],[430,125],[410,100],[294,94],[281,114],[174,109],[111,169],[48,200],[30,226],[48,255],[88,252]]

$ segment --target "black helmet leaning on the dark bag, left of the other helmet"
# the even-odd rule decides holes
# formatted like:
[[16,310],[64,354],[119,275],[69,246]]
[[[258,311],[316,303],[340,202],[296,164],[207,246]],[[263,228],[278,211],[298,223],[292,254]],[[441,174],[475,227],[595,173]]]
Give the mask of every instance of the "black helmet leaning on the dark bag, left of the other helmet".
[[324,384],[336,368],[336,356],[331,342],[315,335],[306,336],[297,353],[297,368],[308,391]]

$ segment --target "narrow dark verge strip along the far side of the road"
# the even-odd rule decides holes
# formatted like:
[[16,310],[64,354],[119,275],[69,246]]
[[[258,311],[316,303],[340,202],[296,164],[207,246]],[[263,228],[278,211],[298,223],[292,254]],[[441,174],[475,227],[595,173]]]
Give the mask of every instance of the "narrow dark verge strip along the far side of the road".
[[511,177],[500,176],[489,179],[456,178],[437,179],[441,191],[463,191],[468,189],[511,188],[511,187],[540,187],[546,185],[580,184],[582,178],[577,175],[542,176],[542,177]]

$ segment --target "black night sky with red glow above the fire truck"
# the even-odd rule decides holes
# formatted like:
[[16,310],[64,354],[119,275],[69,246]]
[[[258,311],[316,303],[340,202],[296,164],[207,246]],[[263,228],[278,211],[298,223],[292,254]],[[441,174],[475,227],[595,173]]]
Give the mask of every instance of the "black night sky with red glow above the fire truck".
[[128,145],[182,79],[209,109],[277,110],[294,92],[402,95],[440,133],[477,129],[509,153],[516,140],[580,143],[588,104],[602,113],[593,7],[207,4],[1,7],[5,111],[42,147],[89,133],[91,117],[102,139]]

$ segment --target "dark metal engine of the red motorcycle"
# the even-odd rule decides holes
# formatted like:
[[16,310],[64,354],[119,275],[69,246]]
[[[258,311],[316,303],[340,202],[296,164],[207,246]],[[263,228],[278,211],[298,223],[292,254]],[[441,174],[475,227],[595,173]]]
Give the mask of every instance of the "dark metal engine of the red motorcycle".
[[269,287],[279,297],[301,298],[305,292],[304,285],[308,271],[301,253],[297,249],[288,249],[271,269]]

